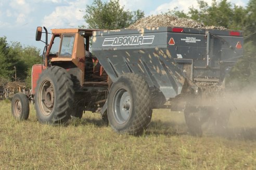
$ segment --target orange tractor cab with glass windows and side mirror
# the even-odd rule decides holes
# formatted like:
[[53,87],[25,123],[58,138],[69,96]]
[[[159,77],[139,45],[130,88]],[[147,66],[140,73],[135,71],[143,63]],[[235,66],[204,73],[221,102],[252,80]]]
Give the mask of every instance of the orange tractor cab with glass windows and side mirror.
[[[97,82],[107,84],[107,75],[92,53],[93,32],[87,29],[52,29],[52,39],[46,48],[43,65],[65,68],[80,86]],[[41,40],[42,27],[36,40]],[[47,43],[47,42],[45,42]]]

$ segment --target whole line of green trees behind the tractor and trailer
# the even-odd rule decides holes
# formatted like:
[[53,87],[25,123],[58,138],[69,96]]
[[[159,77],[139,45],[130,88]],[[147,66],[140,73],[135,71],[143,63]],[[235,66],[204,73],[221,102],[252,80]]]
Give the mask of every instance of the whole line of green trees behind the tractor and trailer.
[[[188,12],[169,10],[169,15],[188,18],[204,25],[224,26],[229,30],[244,31],[244,56],[233,68],[229,80],[237,80],[239,86],[256,83],[256,0],[249,0],[247,6],[237,6],[227,0],[212,0],[211,4],[197,1],[199,8],[189,7]],[[102,2],[94,0],[85,7],[84,21],[79,27],[88,29],[123,29],[144,17],[144,11],[125,10],[119,0]],[[7,43],[0,37],[0,80],[25,81],[30,87],[31,68],[41,63],[40,49],[23,47],[20,43]],[[16,73],[16,75],[15,75]]]

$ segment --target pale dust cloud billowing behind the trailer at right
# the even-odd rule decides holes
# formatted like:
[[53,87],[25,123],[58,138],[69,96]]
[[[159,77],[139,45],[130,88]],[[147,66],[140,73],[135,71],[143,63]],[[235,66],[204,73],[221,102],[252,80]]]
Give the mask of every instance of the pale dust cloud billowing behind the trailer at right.
[[213,108],[212,115],[202,124],[203,133],[256,139],[256,86],[226,88],[211,94],[201,101],[202,105],[211,104]]

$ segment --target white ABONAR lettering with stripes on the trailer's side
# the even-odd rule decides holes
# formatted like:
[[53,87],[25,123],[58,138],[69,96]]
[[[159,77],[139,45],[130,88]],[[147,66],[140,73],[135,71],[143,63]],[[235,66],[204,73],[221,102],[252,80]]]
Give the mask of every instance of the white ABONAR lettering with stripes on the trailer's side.
[[155,35],[105,38],[103,46],[134,46],[152,44]]

